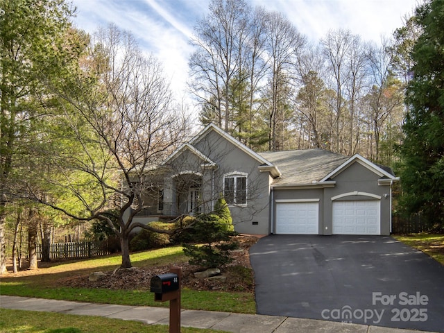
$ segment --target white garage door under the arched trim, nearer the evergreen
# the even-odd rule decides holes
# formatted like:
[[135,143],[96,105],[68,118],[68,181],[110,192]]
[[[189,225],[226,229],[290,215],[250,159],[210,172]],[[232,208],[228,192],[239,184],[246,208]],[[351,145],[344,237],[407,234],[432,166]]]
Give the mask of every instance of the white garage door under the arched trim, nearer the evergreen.
[[333,234],[380,234],[379,200],[334,201]]

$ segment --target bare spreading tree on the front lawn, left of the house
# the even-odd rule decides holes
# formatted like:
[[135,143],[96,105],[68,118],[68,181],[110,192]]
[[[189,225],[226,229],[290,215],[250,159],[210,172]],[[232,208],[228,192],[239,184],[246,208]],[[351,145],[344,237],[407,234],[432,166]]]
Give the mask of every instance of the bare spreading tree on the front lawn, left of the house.
[[[185,116],[173,106],[160,63],[116,26],[94,36],[83,73],[65,88],[59,92],[65,114],[56,122],[69,144],[53,151],[44,179],[52,187],[49,197],[62,196],[35,197],[80,221],[108,223],[121,242],[121,266],[130,267],[128,237],[140,226],[132,221],[143,209],[135,203],[156,187],[153,169],[187,135]],[[81,210],[69,207],[66,198],[75,198]]]

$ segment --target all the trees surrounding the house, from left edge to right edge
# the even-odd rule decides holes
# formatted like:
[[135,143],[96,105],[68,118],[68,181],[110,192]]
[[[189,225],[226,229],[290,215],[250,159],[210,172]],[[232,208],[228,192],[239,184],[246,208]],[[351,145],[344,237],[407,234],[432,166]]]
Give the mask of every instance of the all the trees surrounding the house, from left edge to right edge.
[[[190,40],[200,122],[259,152],[395,167],[397,210],[442,225],[443,6],[425,1],[379,44],[343,30],[311,44],[280,13],[213,0]],[[122,212],[157,186],[146,170],[193,134],[185,106],[130,32],[87,35],[69,1],[0,0],[0,13],[0,272],[11,244],[78,240],[92,221],[125,246]]]

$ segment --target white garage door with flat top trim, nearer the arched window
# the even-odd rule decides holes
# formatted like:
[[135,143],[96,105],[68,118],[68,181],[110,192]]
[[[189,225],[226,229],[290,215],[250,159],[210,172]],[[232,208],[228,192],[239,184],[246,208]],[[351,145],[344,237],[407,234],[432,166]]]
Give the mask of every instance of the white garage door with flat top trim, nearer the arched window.
[[318,234],[318,203],[276,204],[276,234]]

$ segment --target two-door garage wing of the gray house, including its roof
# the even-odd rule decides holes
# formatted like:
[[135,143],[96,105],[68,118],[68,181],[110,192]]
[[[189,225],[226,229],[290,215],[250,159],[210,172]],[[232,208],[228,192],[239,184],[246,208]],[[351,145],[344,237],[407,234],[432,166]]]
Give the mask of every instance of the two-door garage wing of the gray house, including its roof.
[[391,186],[399,178],[390,169],[360,155],[341,160],[323,150],[294,154],[301,164],[288,152],[266,154],[283,172],[271,184],[270,233],[391,233]]

